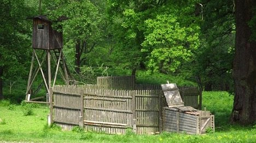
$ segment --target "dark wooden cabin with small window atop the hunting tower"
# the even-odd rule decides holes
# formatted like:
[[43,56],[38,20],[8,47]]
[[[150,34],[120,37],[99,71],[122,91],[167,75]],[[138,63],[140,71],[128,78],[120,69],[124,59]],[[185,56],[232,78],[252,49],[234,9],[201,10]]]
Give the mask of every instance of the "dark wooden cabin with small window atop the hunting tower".
[[33,17],[32,47],[36,49],[62,48],[62,33],[51,27],[46,16]]

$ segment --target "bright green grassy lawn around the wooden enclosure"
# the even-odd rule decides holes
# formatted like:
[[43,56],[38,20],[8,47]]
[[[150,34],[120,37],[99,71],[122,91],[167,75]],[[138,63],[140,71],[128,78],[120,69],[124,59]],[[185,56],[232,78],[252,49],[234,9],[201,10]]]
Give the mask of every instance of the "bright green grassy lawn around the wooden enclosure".
[[48,128],[48,107],[33,107],[25,116],[21,105],[0,102],[0,142],[256,142],[256,125],[229,124],[232,99],[227,92],[203,92],[203,107],[215,115],[216,132],[205,135],[161,133],[160,135],[108,135],[94,132],[62,131]]

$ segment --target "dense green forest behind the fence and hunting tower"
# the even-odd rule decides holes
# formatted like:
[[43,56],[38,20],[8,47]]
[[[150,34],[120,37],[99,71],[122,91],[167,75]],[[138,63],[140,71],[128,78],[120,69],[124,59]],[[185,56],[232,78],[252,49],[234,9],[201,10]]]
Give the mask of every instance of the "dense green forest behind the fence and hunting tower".
[[[62,26],[66,61],[79,83],[134,75],[141,83],[169,80],[234,95],[235,1],[0,2],[0,100],[25,99],[32,57],[32,20],[27,18],[40,14],[50,20],[68,17],[53,26]],[[248,25],[255,23],[254,16]]]

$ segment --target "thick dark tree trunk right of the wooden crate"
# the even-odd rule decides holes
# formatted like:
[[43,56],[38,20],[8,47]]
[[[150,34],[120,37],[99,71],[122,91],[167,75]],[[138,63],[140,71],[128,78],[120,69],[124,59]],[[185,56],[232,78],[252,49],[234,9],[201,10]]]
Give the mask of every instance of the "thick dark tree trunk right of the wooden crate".
[[249,124],[256,120],[256,42],[250,40],[248,21],[253,17],[254,0],[236,0],[236,43],[233,77],[235,98],[231,122]]

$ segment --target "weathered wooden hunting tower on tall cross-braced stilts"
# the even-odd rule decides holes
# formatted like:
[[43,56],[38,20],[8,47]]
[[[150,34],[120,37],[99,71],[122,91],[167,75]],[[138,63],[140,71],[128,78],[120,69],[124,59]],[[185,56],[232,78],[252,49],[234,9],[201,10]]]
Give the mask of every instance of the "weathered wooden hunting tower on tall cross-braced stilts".
[[[45,96],[35,97],[35,98],[30,98],[30,97],[32,95],[36,95],[37,92],[42,87],[42,85],[45,86],[45,89],[47,91],[46,96],[50,95],[50,88],[54,88],[58,72],[61,73],[60,76],[62,77],[62,79],[65,80],[65,83],[69,84],[70,74],[67,70],[67,65],[62,52],[62,47],[63,47],[62,32],[58,32],[57,30],[54,30],[53,27],[51,27],[51,24],[53,22],[60,22],[62,20],[66,20],[67,18],[65,16],[61,16],[56,21],[50,21],[46,16],[39,15],[39,16],[28,18],[28,19],[33,20],[33,34],[32,34],[33,54],[32,54],[30,74],[29,74],[28,83],[27,83],[26,101],[34,102],[34,103],[49,103],[51,97],[49,98],[46,97],[46,102],[35,101],[35,100],[42,99]],[[46,62],[44,62],[45,59],[46,59]],[[54,62],[51,63],[51,59],[53,59]],[[38,63],[37,67],[34,67],[34,61],[37,61]],[[44,66],[44,64],[46,66]],[[54,67],[54,70],[55,70],[53,84],[51,84],[51,80],[52,80],[51,67]],[[60,71],[59,71],[59,67],[61,69]],[[36,76],[39,71],[43,78],[42,83],[38,86],[38,88],[36,88],[35,90],[32,90],[33,82],[36,79]]]

